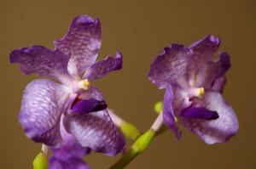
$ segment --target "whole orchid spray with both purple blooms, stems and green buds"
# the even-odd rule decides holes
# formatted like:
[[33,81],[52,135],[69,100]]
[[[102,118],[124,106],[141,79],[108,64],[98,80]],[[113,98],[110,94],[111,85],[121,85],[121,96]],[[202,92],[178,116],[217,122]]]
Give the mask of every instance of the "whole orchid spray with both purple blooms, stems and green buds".
[[[100,21],[88,15],[76,17],[54,45],[54,49],[39,45],[15,49],[9,56],[24,74],[48,77],[26,86],[19,114],[26,136],[42,144],[34,169],[88,169],[84,155],[113,156],[121,150],[124,155],[110,169],[124,168],[166,131],[164,122],[177,138],[181,138],[177,127],[181,123],[207,144],[228,141],[238,130],[236,114],[221,94],[230,56],[219,52],[217,59],[212,58],[218,50],[218,37],[204,37],[189,47],[172,44],[154,59],[148,78],[166,89],[164,108],[156,110],[160,115],[143,134],[108,109],[102,92],[91,85],[120,70],[123,63],[120,53],[96,61]],[[127,151],[123,136],[134,141]],[[48,159],[49,149],[52,155]]]

